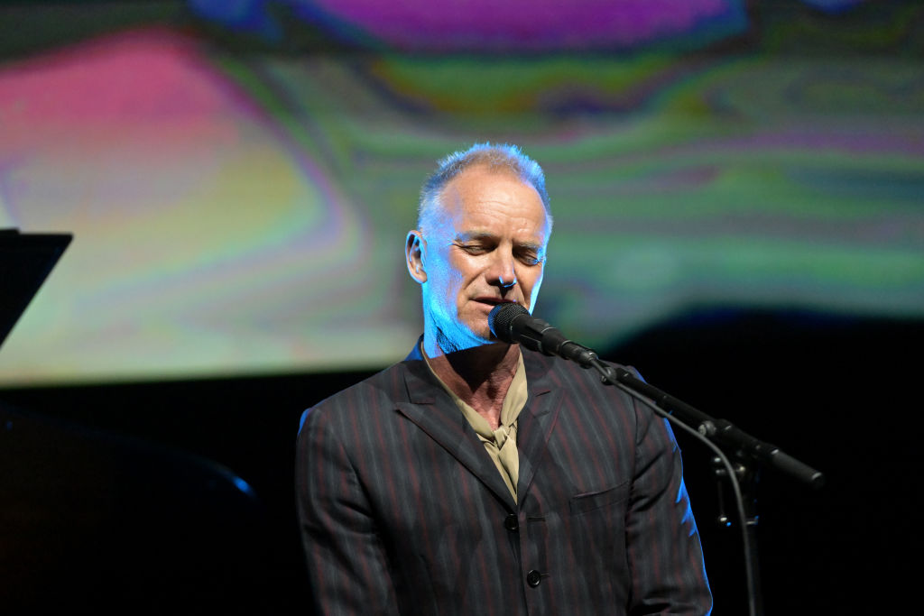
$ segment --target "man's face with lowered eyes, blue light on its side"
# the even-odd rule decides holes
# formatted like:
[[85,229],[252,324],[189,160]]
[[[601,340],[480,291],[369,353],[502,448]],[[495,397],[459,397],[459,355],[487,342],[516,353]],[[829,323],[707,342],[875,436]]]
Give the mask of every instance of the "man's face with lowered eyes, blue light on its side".
[[[488,313],[502,302],[531,311],[549,228],[539,193],[515,175],[472,167],[444,187],[424,222],[424,319],[444,353],[492,342]],[[413,233],[413,232],[412,232]],[[413,275],[413,272],[412,272]]]

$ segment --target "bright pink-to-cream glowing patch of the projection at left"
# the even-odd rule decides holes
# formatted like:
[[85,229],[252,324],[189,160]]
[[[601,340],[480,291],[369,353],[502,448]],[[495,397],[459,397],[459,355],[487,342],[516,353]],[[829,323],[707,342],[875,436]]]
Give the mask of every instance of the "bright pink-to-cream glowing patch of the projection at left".
[[[0,126],[0,227],[75,236],[0,380],[285,371],[416,335],[370,320],[390,281],[322,157],[196,42],[131,32],[7,66]],[[327,356],[334,332],[363,352]]]

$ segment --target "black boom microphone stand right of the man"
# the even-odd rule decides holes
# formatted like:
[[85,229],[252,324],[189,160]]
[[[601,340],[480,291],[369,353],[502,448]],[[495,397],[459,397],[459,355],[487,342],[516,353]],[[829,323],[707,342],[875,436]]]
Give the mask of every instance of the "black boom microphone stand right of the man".
[[[590,352],[592,354],[592,351]],[[730,525],[724,515],[722,480],[727,477],[736,494],[738,515],[742,525],[742,541],[748,577],[748,608],[751,616],[763,616],[763,598],[760,590],[760,564],[757,550],[757,480],[760,465],[767,465],[805,483],[814,489],[824,484],[821,472],[784,453],[779,447],[760,441],[747,432],[737,429],[725,419],[716,419],[687,405],[682,400],[662,392],[626,370],[603,363],[593,354],[589,361],[580,362],[585,368],[595,368],[605,385],[613,385],[650,405],[658,415],[667,418],[678,428],[711,448],[713,471],[719,482],[720,522]],[[733,466],[723,452],[730,452],[736,460]]]

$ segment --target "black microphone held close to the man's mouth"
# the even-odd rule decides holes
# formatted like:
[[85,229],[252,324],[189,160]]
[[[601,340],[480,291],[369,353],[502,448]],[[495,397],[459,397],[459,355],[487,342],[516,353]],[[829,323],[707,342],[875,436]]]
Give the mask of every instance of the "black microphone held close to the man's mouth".
[[559,356],[577,362],[583,368],[590,368],[599,357],[591,349],[565,338],[544,320],[533,317],[529,310],[519,304],[508,302],[498,304],[488,315],[488,326],[498,340],[518,343],[531,351],[548,356]]

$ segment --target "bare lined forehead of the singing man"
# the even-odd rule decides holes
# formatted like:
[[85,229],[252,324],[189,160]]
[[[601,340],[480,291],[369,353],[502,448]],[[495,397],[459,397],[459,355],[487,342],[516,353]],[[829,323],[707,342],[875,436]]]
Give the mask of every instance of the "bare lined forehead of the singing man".
[[456,233],[510,232],[532,241],[548,239],[539,192],[508,170],[466,169],[443,189],[441,226]]

